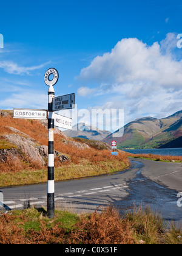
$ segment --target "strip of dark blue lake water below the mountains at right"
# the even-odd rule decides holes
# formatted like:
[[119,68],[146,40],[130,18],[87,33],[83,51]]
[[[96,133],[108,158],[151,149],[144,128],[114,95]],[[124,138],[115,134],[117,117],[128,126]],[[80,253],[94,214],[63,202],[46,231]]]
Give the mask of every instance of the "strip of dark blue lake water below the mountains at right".
[[182,148],[172,149],[128,149],[124,150],[132,154],[153,154],[153,155],[182,155]]

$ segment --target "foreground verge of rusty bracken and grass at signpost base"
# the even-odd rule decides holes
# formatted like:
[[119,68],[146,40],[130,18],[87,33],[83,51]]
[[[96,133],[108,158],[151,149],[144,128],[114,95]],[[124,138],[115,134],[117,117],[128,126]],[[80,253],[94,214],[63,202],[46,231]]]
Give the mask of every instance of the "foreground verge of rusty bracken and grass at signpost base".
[[0,216],[0,244],[181,244],[181,236],[149,207],[134,207],[125,216],[112,207],[87,215],[56,210],[54,219],[44,208]]

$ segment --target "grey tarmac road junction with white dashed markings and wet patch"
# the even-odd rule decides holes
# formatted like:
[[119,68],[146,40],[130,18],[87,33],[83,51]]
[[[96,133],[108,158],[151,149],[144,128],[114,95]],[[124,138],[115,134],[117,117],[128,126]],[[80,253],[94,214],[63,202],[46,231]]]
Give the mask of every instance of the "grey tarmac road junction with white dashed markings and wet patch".
[[[55,182],[55,207],[74,212],[92,212],[115,205],[124,213],[135,205],[150,205],[165,219],[181,222],[182,163],[130,158],[131,166],[112,175]],[[0,188],[10,208],[47,205],[47,184]],[[178,202],[178,205],[177,205]],[[180,207],[179,207],[180,206]],[[0,210],[2,209],[0,205]]]

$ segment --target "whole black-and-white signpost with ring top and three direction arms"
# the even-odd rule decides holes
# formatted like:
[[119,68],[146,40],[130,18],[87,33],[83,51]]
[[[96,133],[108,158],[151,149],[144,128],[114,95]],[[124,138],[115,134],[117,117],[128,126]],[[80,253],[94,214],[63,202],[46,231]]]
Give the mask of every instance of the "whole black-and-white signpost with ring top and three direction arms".
[[54,127],[72,130],[72,119],[61,116],[54,111],[75,107],[75,93],[55,98],[53,85],[58,82],[59,74],[55,68],[49,68],[44,75],[44,82],[49,86],[48,110],[13,108],[13,118],[48,119],[48,177],[47,177],[47,213],[49,218],[55,216],[54,184]]

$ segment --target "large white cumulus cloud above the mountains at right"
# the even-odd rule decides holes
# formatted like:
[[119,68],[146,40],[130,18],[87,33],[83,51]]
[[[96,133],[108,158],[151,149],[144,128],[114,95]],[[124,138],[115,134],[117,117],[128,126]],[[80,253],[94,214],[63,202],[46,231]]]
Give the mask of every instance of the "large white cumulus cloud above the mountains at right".
[[82,88],[95,89],[95,96],[110,94],[113,105],[124,107],[132,118],[147,114],[163,117],[182,108],[178,100],[182,93],[182,60],[175,56],[175,49],[175,33],[150,46],[137,38],[124,38],[81,69],[78,79],[86,85],[98,84],[97,88]]

